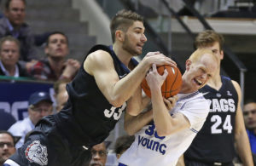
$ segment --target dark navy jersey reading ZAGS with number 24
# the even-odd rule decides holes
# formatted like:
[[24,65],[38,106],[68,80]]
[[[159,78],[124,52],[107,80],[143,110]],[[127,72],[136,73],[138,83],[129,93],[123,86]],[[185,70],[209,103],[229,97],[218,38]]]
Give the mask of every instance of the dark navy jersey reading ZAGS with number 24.
[[200,132],[184,153],[185,158],[202,162],[231,162],[235,156],[234,133],[238,94],[230,78],[221,77],[222,87],[200,89],[210,101],[210,112]]

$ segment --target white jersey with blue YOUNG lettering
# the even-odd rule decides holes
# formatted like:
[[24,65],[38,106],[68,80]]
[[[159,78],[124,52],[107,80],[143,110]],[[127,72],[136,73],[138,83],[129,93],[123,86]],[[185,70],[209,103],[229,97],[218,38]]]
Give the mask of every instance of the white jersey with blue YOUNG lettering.
[[131,147],[119,158],[119,163],[128,166],[175,166],[195,135],[205,122],[210,105],[198,91],[192,94],[177,94],[173,115],[183,113],[189,119],[190,127],[167,136],[157,135],[154,123],[149,123],[135,135]]

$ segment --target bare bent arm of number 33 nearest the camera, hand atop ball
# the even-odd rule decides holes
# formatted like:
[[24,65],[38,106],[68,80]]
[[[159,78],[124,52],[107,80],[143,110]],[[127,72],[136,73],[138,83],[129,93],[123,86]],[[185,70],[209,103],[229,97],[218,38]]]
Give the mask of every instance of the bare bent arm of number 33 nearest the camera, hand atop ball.
[[173,63],[173,60],[163,54],[153,54],[150,55],[150,58],[142,60],[126,77],[119,80],[110,54],[106,51],[98,50],[89,54],[84,60],[84,70],[95,77],[102,94],[113,106],[118,107],[122,106],[135,93],[153,61],[162,65],[172,65]]

